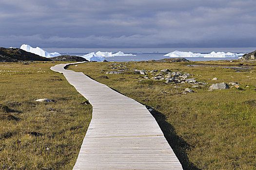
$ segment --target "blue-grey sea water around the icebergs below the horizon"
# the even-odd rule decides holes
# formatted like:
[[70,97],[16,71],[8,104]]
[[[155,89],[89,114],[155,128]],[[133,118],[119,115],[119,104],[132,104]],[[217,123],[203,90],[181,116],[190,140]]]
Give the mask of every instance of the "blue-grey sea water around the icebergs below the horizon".
[[[132,53],[136,56],[115,56],[115,57],[106,57],[107,61],[115,61],[115,62],[127,62],[127,61],[148,61],[148,60],[159,60],[164,58],[170,58],[168,56],[164,56],[165,54],[172,51],[192,51],[194,53],[210,53],[212,51],[223,51],[223,52],[232,52],[232,53],[248,53],[255,51],[256,48],[160,48],[160,49],[68,49],[65,51],[70,52],[60,52],[62,55],[77,55],[82,56],[90,52],[97,51],[112,51],[118,52],[123,51],[125,53]],[[83,52],[84,51],[84,52]],[[85,52],[86,51],[86,52]],[[238,57],[185,57],[190,61],[210,61],[210,60],[236,60]]]

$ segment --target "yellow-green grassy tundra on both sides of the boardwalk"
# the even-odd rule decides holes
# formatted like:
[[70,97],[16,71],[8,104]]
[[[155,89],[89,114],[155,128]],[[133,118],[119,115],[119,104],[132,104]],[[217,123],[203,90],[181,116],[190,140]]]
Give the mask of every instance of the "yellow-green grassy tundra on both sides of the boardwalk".
[[[0,63],[0,169],[70,170],[74,166],[92,108],[63,75],[49,69],[56,64]],[[218,67],[209,67],[213,64]],[[184,169],[252,170],[256,169],[256,68],[252,65],[123,62],[85,63],[69,69],[153,108],[151,113]],[[164,68],[190,73],[189,78],[206,85],[167,84],[144,79],[132,70]],[[126,72],[105,74],[119,69]],[[159,73],[146,72],[149,78]],[[209,85],[222,82],[238,82],[240,87],[208,91]],[[182,94],[186,87],[195,92]],[[34,102],[39,98],[55,102]]]

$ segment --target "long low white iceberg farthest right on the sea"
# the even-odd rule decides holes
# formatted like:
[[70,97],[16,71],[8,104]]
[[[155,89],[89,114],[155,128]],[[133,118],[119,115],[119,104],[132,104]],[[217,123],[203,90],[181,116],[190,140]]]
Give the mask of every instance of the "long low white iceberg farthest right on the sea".
[[226,57],[240,57],[244,53],[232,53],[232,52],[211,52],[207,54],[202,53],[193,53],[191,51],[189,52],[183,52],[183,51],[173,51],[168,54],[165,54],[164,56],[168,57],[204,57],[204,58],[226,58]]

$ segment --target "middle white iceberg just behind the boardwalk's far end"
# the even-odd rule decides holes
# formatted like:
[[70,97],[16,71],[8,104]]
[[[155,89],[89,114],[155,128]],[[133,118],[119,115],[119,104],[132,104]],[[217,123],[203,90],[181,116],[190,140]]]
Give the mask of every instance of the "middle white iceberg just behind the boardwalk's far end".
[[126,54],[122,51],[119,51],[117,53],[112,53],[107,51],[106,52],[98,51],[98,52],[91,52],[91,53],[85,54],[81,57],[85,58],[88,61],[103,61],[105,57],[107,58],[107,57],[115,57],[115,56],[136,56],[136,55]]

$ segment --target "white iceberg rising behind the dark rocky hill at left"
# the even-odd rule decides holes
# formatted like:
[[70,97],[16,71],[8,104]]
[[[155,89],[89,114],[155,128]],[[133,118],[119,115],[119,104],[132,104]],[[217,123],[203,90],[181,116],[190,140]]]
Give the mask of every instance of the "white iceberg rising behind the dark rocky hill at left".
[[27,44],[22,44],[20,46],[20,49],[21,50],[24,50],[24,51],[27,51],[27,52],[31,52],[31,53],[34,53],[34,54],[38,54],[42,57],[47,57],[47,58],[50,58],[50,57],[57,57],[59,55],[61,55],[59,52],[52,52],[52,53],[49,53],[47,51],[44,51],[42,50],[41,48],[37,47],[37,48],[33,48]]

